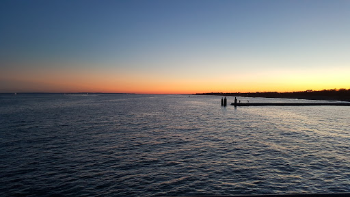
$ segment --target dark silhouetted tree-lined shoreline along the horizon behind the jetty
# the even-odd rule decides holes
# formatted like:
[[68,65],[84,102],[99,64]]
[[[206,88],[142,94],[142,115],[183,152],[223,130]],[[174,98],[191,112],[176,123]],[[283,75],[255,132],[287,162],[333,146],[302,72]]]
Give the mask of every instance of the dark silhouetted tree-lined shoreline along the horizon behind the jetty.
[[243,97],[264,97],[281,99],[309,99],[309,100],[327,100],[327,101],[349,101],[350,89],[331,89],[331,90],[306,90],[304,92],[234,92],[234,93],[197,93],[194,95],[217,95],[217,96],[243,96]]

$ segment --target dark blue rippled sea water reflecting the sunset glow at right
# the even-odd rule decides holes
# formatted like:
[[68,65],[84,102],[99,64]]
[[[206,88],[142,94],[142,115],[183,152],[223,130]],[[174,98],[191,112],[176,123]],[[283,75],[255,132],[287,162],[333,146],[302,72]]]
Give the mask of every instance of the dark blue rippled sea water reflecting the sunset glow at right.
[[0,94],[0,196],[350,192],[350,107],[220,102]]

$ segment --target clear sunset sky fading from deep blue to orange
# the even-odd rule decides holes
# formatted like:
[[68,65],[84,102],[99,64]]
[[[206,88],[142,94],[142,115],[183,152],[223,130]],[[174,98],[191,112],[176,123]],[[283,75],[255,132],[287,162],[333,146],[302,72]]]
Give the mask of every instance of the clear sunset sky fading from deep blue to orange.
[[0,92],[350,88],[350,1],[0,1]]

